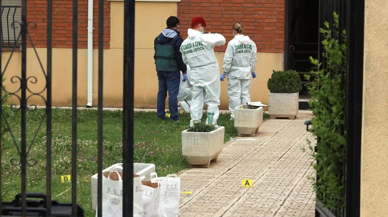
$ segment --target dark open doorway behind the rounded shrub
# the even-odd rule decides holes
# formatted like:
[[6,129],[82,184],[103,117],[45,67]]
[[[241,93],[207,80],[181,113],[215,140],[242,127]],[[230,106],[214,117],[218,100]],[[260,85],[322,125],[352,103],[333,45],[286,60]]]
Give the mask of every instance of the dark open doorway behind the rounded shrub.
[[[309,82],[304,75],[311,74],[313,67],[308,58],[318,58],[319,0],[286,1],[286,16],[284,69],[299,73],[303,84],[303,89],[299,92],[300,101],[307,101],[310,97],[305,85]],[[303,105],[300,106],[303,109]]]

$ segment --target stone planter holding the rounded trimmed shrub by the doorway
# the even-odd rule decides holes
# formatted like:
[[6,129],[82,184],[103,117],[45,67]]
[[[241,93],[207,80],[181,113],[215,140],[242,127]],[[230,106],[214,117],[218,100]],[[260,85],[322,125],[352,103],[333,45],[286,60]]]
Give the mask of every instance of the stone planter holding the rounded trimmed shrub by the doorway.
[[287,117],[294,120],[299,111],[299,93],[269,93],[269,106],[271,119]]

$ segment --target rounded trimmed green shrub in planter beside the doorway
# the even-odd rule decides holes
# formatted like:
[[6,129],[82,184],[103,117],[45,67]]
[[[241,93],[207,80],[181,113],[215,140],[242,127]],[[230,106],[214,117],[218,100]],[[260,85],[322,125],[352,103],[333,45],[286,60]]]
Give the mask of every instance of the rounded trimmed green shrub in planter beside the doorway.
[[275,71],[268,79],[267,87],[271,93],[297,93],[302,90],[300,76],[294,70]]

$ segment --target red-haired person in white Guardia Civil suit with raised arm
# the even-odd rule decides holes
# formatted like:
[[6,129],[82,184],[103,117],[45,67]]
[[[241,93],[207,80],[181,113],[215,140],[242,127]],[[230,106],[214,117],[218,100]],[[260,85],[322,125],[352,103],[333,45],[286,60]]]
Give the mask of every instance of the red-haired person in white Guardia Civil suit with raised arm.
[[208,113],[214,113],[212,124],[217,125],[217,119],[220,115],[218,111],[218,105],[220,105],[220,69],[214,47],[224,45],[225,37],[217,33],[203,34],[205,28],[204,19],[194,17],[191,21],[191,29],[187,30],[188,37],[180,46],[183,62],[190,66],[190,74],[187,79],[193,85],[190,126],[193,126],[194,122],[201,121],[205,95],[207,95]]

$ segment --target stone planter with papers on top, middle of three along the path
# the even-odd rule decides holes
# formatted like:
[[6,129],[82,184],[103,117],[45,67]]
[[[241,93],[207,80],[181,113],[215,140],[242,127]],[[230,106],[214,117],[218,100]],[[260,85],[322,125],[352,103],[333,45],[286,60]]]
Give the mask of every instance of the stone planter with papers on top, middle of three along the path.
[[237,135],[255,136],[263,123],[263,107],[248,109],[248,105],[241,106],[234,109],[234,128],[237,130]]

